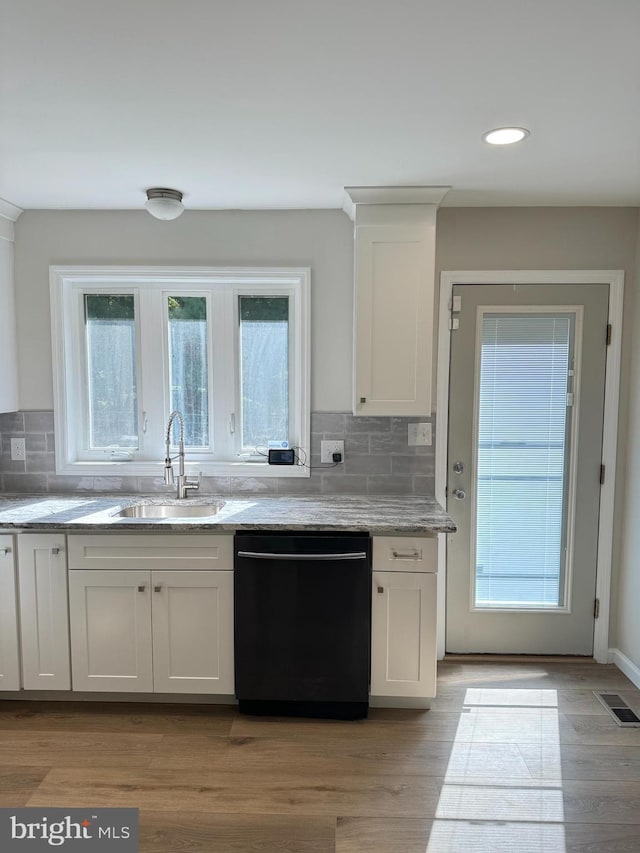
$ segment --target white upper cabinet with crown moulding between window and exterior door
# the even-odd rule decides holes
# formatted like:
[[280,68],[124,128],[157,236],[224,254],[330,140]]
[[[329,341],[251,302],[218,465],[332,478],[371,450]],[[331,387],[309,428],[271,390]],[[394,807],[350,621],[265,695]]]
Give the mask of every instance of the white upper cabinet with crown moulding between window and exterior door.
[[[355,415],[431,414],[436,210],[446,190],[399,189],[420,192],[346,191],[355,224]],[[404,198],[433,203],[391,203]]]

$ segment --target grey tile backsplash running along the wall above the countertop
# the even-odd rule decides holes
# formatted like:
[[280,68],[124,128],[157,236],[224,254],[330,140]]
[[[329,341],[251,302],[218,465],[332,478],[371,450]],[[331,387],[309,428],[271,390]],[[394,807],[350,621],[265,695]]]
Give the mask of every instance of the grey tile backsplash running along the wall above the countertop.
[[[433,495],[434,445],[410,447],[409,423],[432,418],[367,418],[348,412],[311,415],[312,466],[320,465],[320,441],[343,439],[345,461],[313,468],[308,478],[204,477],[204,494],[243,492],[281,495]],[[11,460],[11,439],[24,438],[26,458]],[[435,436],[434,436],[435,442]],[[0,414],[0,491],[127,492],[168,491],[162,477],[75,477],[55,473],[53,412]]]

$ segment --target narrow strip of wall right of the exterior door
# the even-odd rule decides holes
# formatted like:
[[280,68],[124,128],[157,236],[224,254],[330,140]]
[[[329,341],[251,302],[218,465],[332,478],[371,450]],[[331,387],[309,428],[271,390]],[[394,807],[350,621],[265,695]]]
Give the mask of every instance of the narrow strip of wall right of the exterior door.
[[640,228],[638,229],[636,298],[630,313],[629,417],[627,482],[622,511],[622,545],[618,572],[618,619],[613,640],[619,651],[640,668]]

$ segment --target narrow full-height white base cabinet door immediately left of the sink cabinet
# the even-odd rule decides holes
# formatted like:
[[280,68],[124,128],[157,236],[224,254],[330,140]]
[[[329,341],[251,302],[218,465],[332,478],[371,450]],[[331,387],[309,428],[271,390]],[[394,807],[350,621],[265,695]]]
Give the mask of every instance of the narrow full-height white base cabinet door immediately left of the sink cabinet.
[[25,690],[69,690],[69,607],[65,537],[18,536],[20,636]]

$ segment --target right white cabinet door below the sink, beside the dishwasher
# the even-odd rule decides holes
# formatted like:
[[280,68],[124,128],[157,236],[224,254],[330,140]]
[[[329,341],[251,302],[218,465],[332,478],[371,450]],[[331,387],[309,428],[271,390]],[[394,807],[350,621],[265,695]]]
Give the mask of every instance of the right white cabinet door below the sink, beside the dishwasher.
[[233,694],[233,572],[152,572],[156,693]]

